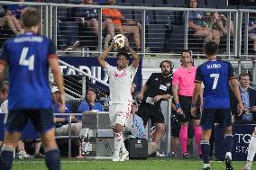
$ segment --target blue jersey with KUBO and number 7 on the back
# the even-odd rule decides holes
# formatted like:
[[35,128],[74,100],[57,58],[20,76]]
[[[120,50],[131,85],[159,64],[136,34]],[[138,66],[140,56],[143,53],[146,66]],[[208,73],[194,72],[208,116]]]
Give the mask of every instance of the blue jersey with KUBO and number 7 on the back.
[[203,108],[230,108],[229,80],[236,78],[232,65],[223,60],[206,61],[197,67],[195,83],[203,82]]

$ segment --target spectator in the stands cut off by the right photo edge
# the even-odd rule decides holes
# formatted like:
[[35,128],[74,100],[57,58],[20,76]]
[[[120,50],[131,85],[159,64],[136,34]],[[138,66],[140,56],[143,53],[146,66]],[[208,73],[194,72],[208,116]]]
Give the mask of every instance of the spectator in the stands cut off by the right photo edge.
[[256,14],[250,13],[248,25],[248,37],[253,40],[253,52],[256,53]]

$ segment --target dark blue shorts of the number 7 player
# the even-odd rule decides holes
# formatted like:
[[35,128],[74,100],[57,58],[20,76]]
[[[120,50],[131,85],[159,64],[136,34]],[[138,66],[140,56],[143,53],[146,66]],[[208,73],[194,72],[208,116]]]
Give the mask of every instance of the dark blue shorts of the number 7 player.
[[232,125],[230,109],[203,109],[201,127],[203,130],[212,130],[215,123],[224,130]]

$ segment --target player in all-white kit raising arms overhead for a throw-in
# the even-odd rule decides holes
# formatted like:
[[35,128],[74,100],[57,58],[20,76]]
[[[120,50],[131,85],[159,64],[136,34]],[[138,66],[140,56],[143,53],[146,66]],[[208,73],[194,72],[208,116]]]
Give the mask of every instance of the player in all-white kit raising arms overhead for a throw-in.
[[98,62],[105,69],[109,76],[110,89],[110,123],[114,127],[114,157],[113,161],[124,161],[129,152],[123,143],[123,126],[130,117],[133,96],[131,93],[133,78],[137,72],[140,58],[125,40],[125,47],[133,56],[133,63],[129,66],[129,54],[125,51],[117,53],[117,67],[110,66],[105,58],[109,51],[114,48],[113,43],[101,54]]

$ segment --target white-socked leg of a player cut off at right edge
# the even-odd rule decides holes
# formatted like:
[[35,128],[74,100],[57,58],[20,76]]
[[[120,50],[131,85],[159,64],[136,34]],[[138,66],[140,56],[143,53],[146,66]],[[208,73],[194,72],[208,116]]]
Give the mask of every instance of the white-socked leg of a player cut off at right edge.
[[242,170],[251,170],[253,158],[256,154],[256,127],[252,133],[251,140],[249,143],[248,154],[247,154],[247,162],[246,165],[242,168]]

